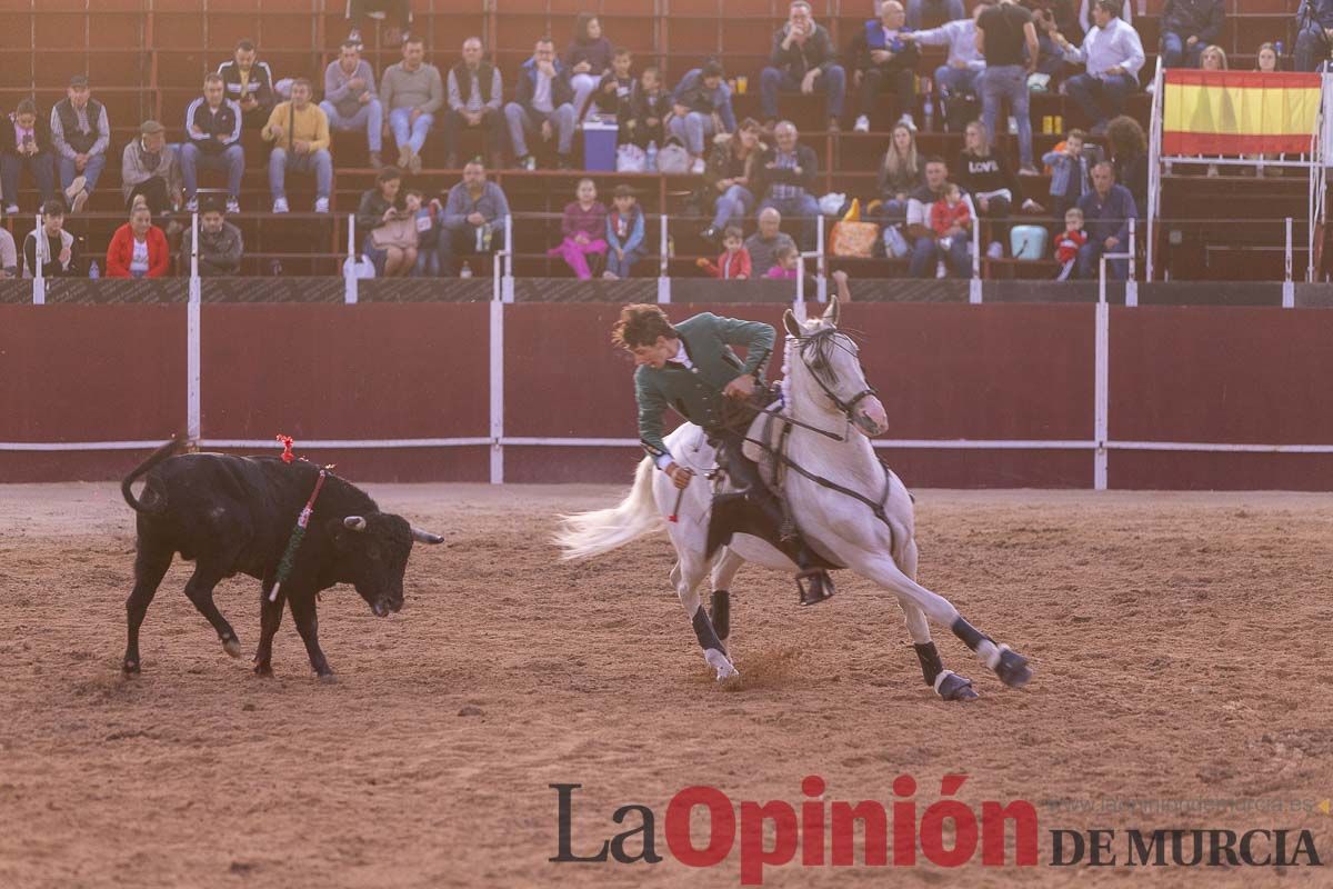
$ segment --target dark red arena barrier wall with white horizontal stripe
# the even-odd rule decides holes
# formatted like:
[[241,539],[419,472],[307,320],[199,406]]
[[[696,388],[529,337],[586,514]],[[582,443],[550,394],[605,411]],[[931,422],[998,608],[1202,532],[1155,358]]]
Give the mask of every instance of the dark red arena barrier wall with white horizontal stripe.
[[[705,309],[778,325],[785,307],[670,313]],[[287,433],[364,481],[624,481],[640,456],[616,304],[196,311],[192,387],[185,305],[0,305],[0,481],[117,478],[187,428],[192,392],[204,446]],[[844,316],[892,421],[882,453],[916,486],[1093,486],[1094,324],[1080,304]],[[1333,489],[1330,341],[1326,311],[1112,307],[1108,485]]]

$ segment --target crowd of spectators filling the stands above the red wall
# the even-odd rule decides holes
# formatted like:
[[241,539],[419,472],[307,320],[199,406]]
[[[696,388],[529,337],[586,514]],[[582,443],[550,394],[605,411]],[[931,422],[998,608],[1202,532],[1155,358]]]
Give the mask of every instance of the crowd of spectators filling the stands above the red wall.
[[[368,7],[388,13],[385,33],[401,44],[401,60],[379,76],[361,57]],[[1162,63],[1226,68],[1214,43],[1224,7],[1224,0],[1166,0]],[[1146,137],[1125,115],[1145,76],[1132,15],[1122,0],[980,0],[970,13],[961,0],[882,0],[849,44],[837,47],[810,4],[794,0],[757,72],[761,120],[737,121],[721,60],[700,60],[672,84],[657,67],[640,67],[633,53],[617,48],[596,15],[577,16],[564,52],[543,36],[532,57],[511,72],[469,36],[441,75],[411,32],[408,0],[353,0],[351,32],[324,71],[320,100],[305,76],[276,80],[253,43],[243,40],[185,111],[184,141],[167,144],[160,121],[141,124],[121,160],[129,221],[97,259],[111,277],[157,277],[168,273],[169,243],[179,239],[185,272],[196,235],[179,215],[199,212],[200,275],[235,275],[244,245],[225,216],[240,211],[243,173],[256,160],[245,156],[243,131],[259,131],[267,145],[272,213],[291,212],[292,175],[311,177],[311,209],[329,212],[336,168],[331,133],[356,132],[364,133],[369,163],[380,171],[356,212],[363,249],[377,273],[453,275],[460,260],[499,247],[509,216],[504,191],[487,177],[488,165],[575,169],[580,125],[607,116],[616,121],[617,145],[660,157],[670,149],[680,161],[673,172],[700,179],[710,217],[701,233],[721,249],[716,263],[700,260],[701,273],[789,277],[797,251],[813,248],[821,212],[816,151],[782,113],[784,96],[800,92],[822,97],[832,132],[848,117],[856,132],[888,132],[876,193],[861,197],[866,219],[884,227],[881,249],[906,259],[909,275],[969,276],[972,232],[981,220],[990,232],[984,249],[1002,256],[1006,227],[1030,216],[1064,225],[1046,253],[1058,261],[1061,277],[1096,276],[1102,252],[1132,247],[1128,220],[1141,217],[1148,200]],[[1326,59],[1330,39],[1333,0],[1304,0],[1296,67],[1312,69]],[[924,84],[918,47],[948,52]],[[1257,59],[1260,71],[1274,71],[1280,61],[1269,43]],[[917,151],[918,128],[932,125],[918,113],[922,91],[937,101],[945,127],[964,133],[953,161]],[[1086,121],[1040,157],[1028,107],[1033,91],[1062,92]],[[885,108],[892,113],[880,119]],[[428,140],[439,132],[445,165],[456,169],[468,131],[480,135],[484,149],[461,164],[461,181],[439,195],[416,187]],[[1000,148],[1009,132],[1017,136],[1017,157]],[[44,276],[85,273],[64,219],[83,212],[95,193],[111,135],[107,108],[83,75],[69,80],[67,97],[49,111],[24,99],[7,116],[0,125],[4,209],[20,212],[19,185],[27,175],[40,196],[41,225],[27,235],[21,252],[0,229],[0,275],[32,276],[39,263]],[[387,164],[391,136],[397,156]],[[665,160],[660,168],[665,172]],[[1041,168],[1050,176],[1046,193],[1032,185]],[[225,173],[225,196],[200,201],[201,171]],[[404,188],[405,180],[413,187]],[[573,197],[549,255],[580,277],[631,276],[649,252],[635,189],[616,187],[607,207],[585,179]],[[794,221],[794,240],[780,231],[784,217]],[[750,219],[757,231],[746,239]],[[1125,273],[1122,261],[1112,269]]]

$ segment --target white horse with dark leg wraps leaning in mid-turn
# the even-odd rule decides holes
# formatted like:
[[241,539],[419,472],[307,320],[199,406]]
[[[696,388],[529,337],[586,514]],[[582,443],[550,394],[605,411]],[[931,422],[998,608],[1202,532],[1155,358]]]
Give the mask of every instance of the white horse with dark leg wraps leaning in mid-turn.
[[[782,489],[796,524],[816,552],[897,596],[922,676],[940,697],[972,700],[977,694],[972,680],[944,669],[928,618],[952,629],[1005,685],[1024,686],[1032,676],[1025,657],[996,644],[968,624],[946,598],[916,582],[912,497],[870,446],[869,436],[884,433],[888,419],[865,381],[856,343],[837,329],[837,320],[836,299],[821,319],[801,324],[790,311],[784,316],[788,367],[780,416],[790,419],[793,425],[785,458],[778,461],[784,465]],[[853,427],[864,435],[854,435]],[[697,476],[713,468],[713,448],[698,427],[681,425],[666,437],[666,444],[676,462]],[[708,485],[696,481],[677,492],[666,474],[656,472],[653,461],[645,457],[629,496],[611,509],[564,517],[556,542],[565,558],[584,558],[665,526],[678,556],[670,572],[676,594],[693,622],[704,658],[717,678],[724,680],[738,674],[726,649],[726,590],[736,572],[746,561],[788,573],[794,573],[796,565],[770,544],[748,534],[736,534],[709,558],[705,540],[710,504]],[[674,520],[664,521],[672,514]],[[716,628],[696,592],[709,569],[716,590]]]

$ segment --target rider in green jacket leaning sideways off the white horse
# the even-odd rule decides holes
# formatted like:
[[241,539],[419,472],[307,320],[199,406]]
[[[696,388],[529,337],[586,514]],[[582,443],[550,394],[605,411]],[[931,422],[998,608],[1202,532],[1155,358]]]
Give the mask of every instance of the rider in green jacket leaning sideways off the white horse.
[[[657,305],[637,304],[621,311],[612,343],[635,356],[639,437],[657,468],[677,489],[694,474],[676,462],[663,441],[663,412],[670,407],[704,429],[717,449],[717,465],[736,489],[713,497],[708,556],[734,533],[760,537],[796,562],[800,602],[814,605],[833,594],[828,562],[805,544],[793,522],[784,522],[777,494],[741,452],[750,421],[776,397],[764,384],[776,336],[772,325],[710,312],[673,325]],[[744,363],[733,345],[745,347]]]

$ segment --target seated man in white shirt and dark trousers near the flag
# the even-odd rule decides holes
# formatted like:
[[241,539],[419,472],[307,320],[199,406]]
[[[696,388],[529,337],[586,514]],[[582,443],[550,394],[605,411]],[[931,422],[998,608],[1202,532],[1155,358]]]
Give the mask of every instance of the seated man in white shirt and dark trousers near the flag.
[[1106,132],[1106,121],[1121,113],[1125,100],[1138,89],[1138,69],[1144,67],[1144,45],[1138,32],[1117,16],[1120,0],[1096,0],[1097,27],[1074,47],[1064,35],[1052,35],[1065,51],[1065,60],[1084,63],[1086,71],[1065,81],[1065,92],[1093,121],[1092,135]]

